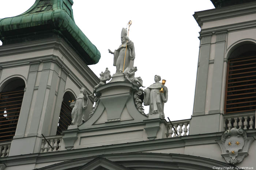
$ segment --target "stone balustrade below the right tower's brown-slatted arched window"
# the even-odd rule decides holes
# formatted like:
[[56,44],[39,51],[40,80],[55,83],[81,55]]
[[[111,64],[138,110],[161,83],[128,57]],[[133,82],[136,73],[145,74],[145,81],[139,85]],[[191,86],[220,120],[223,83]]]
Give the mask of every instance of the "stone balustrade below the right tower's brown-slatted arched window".
[[224,115],[224,129],[255,129],[255,112]]

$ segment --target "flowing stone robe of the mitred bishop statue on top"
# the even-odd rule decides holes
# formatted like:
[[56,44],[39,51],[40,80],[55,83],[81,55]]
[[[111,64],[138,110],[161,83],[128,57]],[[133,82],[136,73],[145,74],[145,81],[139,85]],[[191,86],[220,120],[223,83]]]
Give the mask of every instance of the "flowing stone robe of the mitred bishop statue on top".
[[[125,55],[125,47],[127,44],[127,51],[125,56],[125,64],[124,64],[124,55]],[[116,73],[123,72],[127,67],[133,67],[135,59],[135,50],[133,42],[130,40],[127,43],[121,44],[117,50],[114,51],[114,66],[116,66]]]

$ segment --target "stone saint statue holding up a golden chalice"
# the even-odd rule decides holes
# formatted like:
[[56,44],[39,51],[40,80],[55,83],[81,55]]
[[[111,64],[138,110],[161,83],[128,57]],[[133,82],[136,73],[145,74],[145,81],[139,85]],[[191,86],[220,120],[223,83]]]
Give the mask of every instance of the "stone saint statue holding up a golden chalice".
[[[162,83],[159,83],[161,76],[155,75],[155,83],[151,84],[144,90],[144,105],[149,105],[149,114],[159,114],[160,118],[164,118],[163,113],[164,103],[168,100],[168,89]],[[163,93],[160,92],[163,88]]]

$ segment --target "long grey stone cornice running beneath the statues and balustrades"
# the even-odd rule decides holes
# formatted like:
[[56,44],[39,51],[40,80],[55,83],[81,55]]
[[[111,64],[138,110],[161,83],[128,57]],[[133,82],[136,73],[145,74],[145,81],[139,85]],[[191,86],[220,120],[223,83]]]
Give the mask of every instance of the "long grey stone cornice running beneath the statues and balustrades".
[[[94,155],[112,154],[112,153],[131,153],[151,150],[171,149],[185,146],[198,146],[205,144],[216,144],[215,141],[221,139],[223,132],[188,135],[175,138],[156,139],[152,141],[140,141],[131,143],[122,143],[116,145],[105,145],[98,147],[87,147],[82,149],[64,150],[49,153],[37,153],[28,155],[19,155],[0,158],[2,163],[7,166],[25,165],[28,163],[46,163],[56,161],[67,161],[70,159],[84,158]],[[246,130],[249,137],[255,137],[256,129]]]

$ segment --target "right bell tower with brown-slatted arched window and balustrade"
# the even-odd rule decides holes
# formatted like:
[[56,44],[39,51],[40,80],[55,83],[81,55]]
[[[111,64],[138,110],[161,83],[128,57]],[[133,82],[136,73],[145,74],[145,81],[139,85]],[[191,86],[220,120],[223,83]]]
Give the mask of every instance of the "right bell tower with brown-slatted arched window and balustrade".
[[201,27],[190,134],[255,128],[255,0],[211,0]]

